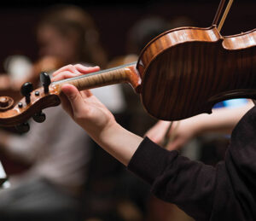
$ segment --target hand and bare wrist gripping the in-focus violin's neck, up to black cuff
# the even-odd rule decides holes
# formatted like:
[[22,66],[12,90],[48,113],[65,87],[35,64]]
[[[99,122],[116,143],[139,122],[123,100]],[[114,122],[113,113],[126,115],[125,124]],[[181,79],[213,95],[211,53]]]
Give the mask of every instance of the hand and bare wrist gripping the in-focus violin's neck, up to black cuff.
[[[82,73],[98,71],[99,67],[84,67],[69,65],[54,73],[53,81],[79,76]],[[80,91],[71,84],[61,86],[62,107],[67,113],[88,132],[102,148],[112,154],[125,166],[137,150],[143,138],[126,131],[121,127],[113,114],[90,93],[90,90]]]

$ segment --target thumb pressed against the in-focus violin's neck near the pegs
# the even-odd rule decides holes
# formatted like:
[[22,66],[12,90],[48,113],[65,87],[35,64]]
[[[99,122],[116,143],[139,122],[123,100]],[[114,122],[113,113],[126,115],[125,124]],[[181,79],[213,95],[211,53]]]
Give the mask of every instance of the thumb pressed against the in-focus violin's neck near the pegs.
[[84,99],[79,90],[72,84],[63,84],[61,90],[67,96],[67,99],[73,108],[73,114],[81,112]]

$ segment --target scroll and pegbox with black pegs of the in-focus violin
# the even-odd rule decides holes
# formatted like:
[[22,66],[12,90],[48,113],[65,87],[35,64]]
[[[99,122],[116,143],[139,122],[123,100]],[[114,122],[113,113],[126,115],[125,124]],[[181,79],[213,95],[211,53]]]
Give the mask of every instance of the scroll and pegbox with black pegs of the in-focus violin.
[[38,123],[44,122],[46,117],[42,110],[61,103],[60,90],[50,84],[47,73],[40,79],[44,86],[36,90],[32,90],[31,83],[21,86],[20,92],[24,97],[16,105],[11,97],[0,96],[0,126],[15,126],[20,132],[29,131],[29,125],[24,122],[31,117]]

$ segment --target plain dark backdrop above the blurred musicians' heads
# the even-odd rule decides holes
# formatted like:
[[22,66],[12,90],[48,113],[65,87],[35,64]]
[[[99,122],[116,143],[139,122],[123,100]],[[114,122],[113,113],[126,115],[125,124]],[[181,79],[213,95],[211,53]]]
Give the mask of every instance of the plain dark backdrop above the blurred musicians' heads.
[[[237,0],[233,3],[223,35],[252,30],[255,26],[255,1]],[[55,3],[72,3],[85,9],[95,20],[108,60],[125,55],[127,32],[137,20],[148,15],[159,15],[166,20],[187,16],[195,26],[211,26],[218,9],[216,0],[195,1],[2,1],[0,8],[0,72],[8,55],[23,54],[32,61],[38,58],[35,26],[44,9]]]

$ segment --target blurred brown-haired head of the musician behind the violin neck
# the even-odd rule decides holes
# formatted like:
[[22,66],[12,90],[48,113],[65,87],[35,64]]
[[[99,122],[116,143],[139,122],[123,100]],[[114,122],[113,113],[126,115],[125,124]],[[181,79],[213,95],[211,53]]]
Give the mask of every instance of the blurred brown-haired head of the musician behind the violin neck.
[[79,7],[60,5],[49,9],[39,21],[37,37],[41,56],[60,57],[66,64],[107,64],[96,25]]

